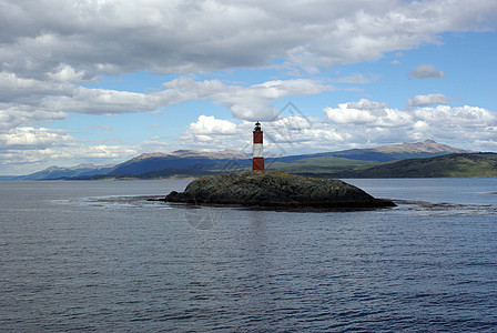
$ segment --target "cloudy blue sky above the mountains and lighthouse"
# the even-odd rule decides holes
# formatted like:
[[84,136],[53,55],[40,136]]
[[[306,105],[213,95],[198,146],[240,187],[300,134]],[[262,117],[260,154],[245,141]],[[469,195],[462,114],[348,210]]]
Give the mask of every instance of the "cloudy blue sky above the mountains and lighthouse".
[[495,0],[0,0],[0,175],[182,149],[497,151]]

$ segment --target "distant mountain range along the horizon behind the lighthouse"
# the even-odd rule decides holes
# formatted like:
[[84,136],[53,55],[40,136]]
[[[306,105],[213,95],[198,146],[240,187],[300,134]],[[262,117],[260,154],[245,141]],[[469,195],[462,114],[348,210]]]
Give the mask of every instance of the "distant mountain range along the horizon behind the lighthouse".
[[[352,149],[334,152],[300,154],[290,157],[270,157],[265,159],[267,170],[282,170],[314,176],[413,176],[413,170],[406,173],[405,164],[395,164],[407,160],[419,160],[417,170],[422,170],[423,160],[444,155],[478,154],[433,140],[413,143],[381,145],[369,149]],[[457,159],[457,158],[456,158]],[[490,159],[490,161],[488,161]],[[490,172],[486,176],[495,175],[491,168],[491,154],[485,155],[486,167]],[[480,160],[478,160],[480,161]],[[426,161],[428,163],[428,161]],[[433,163],[433,162],[430,162]],[[435,162],[436,164],[436,162]],[[158,179],[158,178],[190,178],[225,172],[250,170],[252,157],[234,150],[204,152],[179,150],[169,153],[155,152],[135,157],[116,165],[80,164],[72,168],[50,167],[45,170],[23,176],[10,178],[17,180],[55,180],[55,179]],[[404,165],[404,167],[403,167]],[[453,164],[450,164],[453,165]],[[471,164],[473,165],[473,164]],[[497,164],[496,164],[497,165]],[[445,165],[448,168],[449,164]],[[376,168],[372,169],[371,168]],[[379,168],[379,169],[378,169]],[[381,171],[387,168],[389,171]],[[416,168],[414,170],[416,170]],[[432,165],[433,168],[433,165]],[[477,165],[473,165],[474,171]],[[366,171],[369,170],[369,171]],[[379,171],[378,171],[379,170]],[[429,174],[429,173],[423,173]],[[435,174],[435,173],[434,173]],[[437,174],[445,174],[439,172]],[[447,173],[449,174],[449,173]],[[457,176],[465,176],[463,173]],[[416,176],[416,175],[414,175]],[[420,175],[423,176],[423,175]],[[429,176],[429,175],[428,175]],[[470,175],[469,175],[470,176]],[[475,175],[473,175],[475,176]],[[6,178],[3,178],[6,179]],[[0,179],[1,180],[1,179]]]

